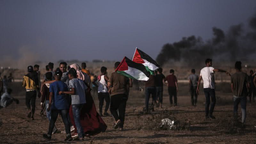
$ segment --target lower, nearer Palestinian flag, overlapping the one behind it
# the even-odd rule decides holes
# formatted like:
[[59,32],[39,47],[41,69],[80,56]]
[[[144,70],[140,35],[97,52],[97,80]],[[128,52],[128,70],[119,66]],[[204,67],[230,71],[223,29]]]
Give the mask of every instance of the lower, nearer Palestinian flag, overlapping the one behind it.
[[147,81],[150,76],[150,73],[143,64],[133,62],[127,57],[124,57],[120,65],[116,68],[116,72],[123,76],[141,81]]

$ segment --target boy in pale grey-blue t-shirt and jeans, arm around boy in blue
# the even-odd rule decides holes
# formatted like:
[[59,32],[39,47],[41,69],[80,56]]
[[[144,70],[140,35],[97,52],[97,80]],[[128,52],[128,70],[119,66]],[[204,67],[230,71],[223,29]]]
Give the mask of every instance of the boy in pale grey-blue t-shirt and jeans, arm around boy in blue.
[[69,88],[71,88],[71,91],[60,91],[59,94],[71,94],[72,111],[78,132],[78,138],[79,140],[83,140],[84,129],[82,128],[82,125],[80,123],[80,114],[84,104],[86,103],[85,91],[87,89],[87,86],[85,85],[83,80],[76,78],[76,70],[74,68],[69,69],[68,77]]

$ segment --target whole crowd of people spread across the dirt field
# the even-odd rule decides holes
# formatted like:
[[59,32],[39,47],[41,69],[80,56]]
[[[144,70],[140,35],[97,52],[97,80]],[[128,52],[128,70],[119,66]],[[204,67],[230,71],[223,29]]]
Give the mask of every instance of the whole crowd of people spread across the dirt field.
[[[116,62],[114,69],[119,66]],[[240,61],[236,61],[236,73],[232,76],[229,72],[212,67],[212,59],[205,60],[205,67],[201,69],[200,75],[196,75],[195,69],[191,69],[188,76],[189,92],[191,95],[192,106],[197,105],[197,95],[203,79],[203,88],[205,95],[205,118],[215,119],[213,111],[216,103],[214,72],[223,72],[231,79],[231,90],[234,101],[234,117],[237,118],[238,104],[242,108],[242,124],[246,118],[247,96],[249,101],[254,101],[256,94],[256,76],[251,70],[250,75],[242,72]],[[41,84],[39,65],[28,66],[28,74],[23,76],[22,86],[26,89],[26,106],[28,108],[28,118],[34,120],[36,96],[41,97],[40,115],[46,116],[49,120],[48,133],[43,134],[46,140],[51,140],[52,134],[60,132],[55,125],[58,115],[60,114],[65,125],[65,141],[83,140],[100,132],[105,132],[107,125],[101,118],[109,116],[108,109],[114,118],[114,129],[123,131],[125,120],[126,102],[129,98],[129,91],[132,85],[132,79],[127,78],[118,72],[113,72],[108,77],[107,68],[101,67],[99,76],[91,74],[86,69],[86,63],[67,65],[66,62],[60,62],[58,68],[54,70],[54,65],[50,62],[46,67],[46,73]],[[145,109],[144,113],[148,114],[154,111],[154,106],[163,107],[164,85],[168,87],[169,102],[172,106],[178,105],[177,92],[178,80],[174,75],[174,70],[170,70],[168,76],[164,76],[163,69],[158,68],[154,74],[149,76],[145,82]],[[10,80],[9,80],[10,79]],[[17,104],[19,100],[10,96],[12,90],[7,87],[7,82],[13,80],[12,74],[0,77],[1,107],[9,106],[13,101]],[[99,113],[96,110],[92,95],[93,91],[98,93]],[[93,92],[92,91],[92,92]],[[149,105],[150,95],[152,103]],[[172,99],[173,97],[173,99]],[[102,111],[104,100],[106,102],[104,112]],[[211,107],[210,107],[211,105]],[[209,110],[210,107],[210,110]],[[72,134],[71,132],[74,131]]]

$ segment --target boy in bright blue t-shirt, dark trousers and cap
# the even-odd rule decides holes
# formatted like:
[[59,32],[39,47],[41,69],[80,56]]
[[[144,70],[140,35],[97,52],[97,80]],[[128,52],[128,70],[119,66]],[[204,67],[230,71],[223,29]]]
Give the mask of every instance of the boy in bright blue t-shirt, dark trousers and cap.
[[48,133],[44,134],[43,138],[46,140],[51,140],[53,127],[57,120],[58,114],[60,113],[67,134],[65,141],[71,141],[73,139],[70,135],[70,124],[68,123],[69,100],[66,95],[59,94],[60,91],[68,91],[68,86],[64,82],[60,81],[61,76],[62,72],[57,70],[54,75],[56,81],[52,83],[49,88],[50,96],[47,111],[51,110],[51,120]]

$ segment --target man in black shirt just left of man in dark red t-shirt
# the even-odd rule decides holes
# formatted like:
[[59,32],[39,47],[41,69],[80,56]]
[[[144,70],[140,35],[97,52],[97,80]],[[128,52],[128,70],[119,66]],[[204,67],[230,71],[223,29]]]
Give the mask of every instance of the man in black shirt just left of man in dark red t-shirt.
[[160,108],[162,108],[163,104],[163,79],[165,79],[165,76],[162,74],[163,69],[158,68],[157,74],[155,76],[156,80],[156,100],[160,103]]

